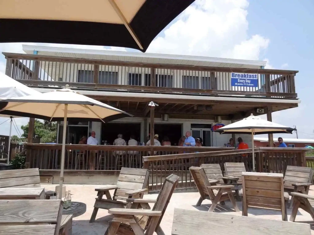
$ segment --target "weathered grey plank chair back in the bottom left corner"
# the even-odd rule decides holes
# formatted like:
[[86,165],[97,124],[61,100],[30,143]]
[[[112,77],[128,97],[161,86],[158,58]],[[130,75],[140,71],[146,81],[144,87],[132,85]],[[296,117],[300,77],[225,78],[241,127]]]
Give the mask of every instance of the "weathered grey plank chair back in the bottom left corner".
[[0,200],[0,235],[58,235],[61,200]]

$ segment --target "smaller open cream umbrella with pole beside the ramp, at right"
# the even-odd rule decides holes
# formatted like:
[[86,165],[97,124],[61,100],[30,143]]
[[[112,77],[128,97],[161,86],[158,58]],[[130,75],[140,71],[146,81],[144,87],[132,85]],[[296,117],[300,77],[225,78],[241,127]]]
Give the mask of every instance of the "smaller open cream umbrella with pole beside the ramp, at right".
[[231,123],[227,126],[221,127],[216,132],[220,134],[251,134],[252,135],[252,157],[253,170],[254,165],[254,135],[257,134],[271,134],[271,133],[289,133],[292,134],[294,128],[286,127],[281,124],[269,122],[251,114],[250,117]]

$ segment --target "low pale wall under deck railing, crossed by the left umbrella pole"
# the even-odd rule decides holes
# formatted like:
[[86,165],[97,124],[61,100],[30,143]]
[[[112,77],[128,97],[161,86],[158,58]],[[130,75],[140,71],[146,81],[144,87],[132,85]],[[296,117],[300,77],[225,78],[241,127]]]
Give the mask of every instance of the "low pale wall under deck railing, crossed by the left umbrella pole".
[[[115,185],[120,170],[64,170],[64,184]],[[59,184],[60,170],[39,170],[41,184]]]

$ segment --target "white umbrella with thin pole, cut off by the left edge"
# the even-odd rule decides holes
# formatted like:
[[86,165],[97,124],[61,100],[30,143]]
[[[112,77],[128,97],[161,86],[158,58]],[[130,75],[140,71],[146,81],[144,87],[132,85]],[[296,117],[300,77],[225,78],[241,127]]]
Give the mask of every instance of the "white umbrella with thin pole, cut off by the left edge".
[[[0,72],[0,101],[4,99],[12,99],[16,97],[29,96],[29,95],[38,95],[41,94],[39,91],[23,85],[22,83],[10,78],[4,73]],[[13,115],[1,115],[0,117],[10,118],[10,133],[9,133],[9,145],[8,145],[8,163],[9,163],[9,154],[10,154],[10,145],[11,145],[11,133],[12,133],[12,119],[19,118],[18,116]]]

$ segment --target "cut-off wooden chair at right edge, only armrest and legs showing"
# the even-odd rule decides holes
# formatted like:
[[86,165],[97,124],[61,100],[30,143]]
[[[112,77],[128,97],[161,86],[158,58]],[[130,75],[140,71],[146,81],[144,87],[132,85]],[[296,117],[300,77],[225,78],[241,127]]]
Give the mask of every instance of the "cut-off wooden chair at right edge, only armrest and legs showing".
[[289,220],[295,222],[299,207],[309,213],[314,220],[314,196],[296,192],[292,192],[291,195],[293,196],[293,208]]

